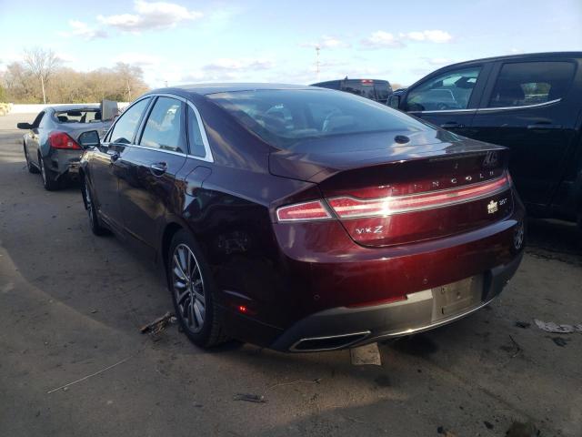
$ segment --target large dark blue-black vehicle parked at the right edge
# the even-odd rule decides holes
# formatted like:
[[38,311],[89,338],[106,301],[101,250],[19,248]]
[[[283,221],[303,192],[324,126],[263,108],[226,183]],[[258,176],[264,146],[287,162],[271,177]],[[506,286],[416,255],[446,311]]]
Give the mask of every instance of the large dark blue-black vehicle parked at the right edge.
[[390,106],[509,147],[528,211],[582,226],[581,67],[582,52],[463,62],[420,79]]

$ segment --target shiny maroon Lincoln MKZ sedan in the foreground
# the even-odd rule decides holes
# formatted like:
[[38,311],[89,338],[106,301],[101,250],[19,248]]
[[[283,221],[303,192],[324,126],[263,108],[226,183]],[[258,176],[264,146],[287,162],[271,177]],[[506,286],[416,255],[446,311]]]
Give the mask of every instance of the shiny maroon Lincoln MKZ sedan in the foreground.
[[429,330],[495,299],[521,260],[507,149],[362,97],[165,88],[96,140],[80,138],[91,228],[164,266],[201,346],[322,351]]

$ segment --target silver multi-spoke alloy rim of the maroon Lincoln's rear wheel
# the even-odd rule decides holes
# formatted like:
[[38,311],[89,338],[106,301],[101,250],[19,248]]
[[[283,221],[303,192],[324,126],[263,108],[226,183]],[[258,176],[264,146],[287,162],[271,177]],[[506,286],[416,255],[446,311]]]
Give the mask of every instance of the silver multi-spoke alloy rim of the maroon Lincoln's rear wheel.
[[174,249],[172,285],[178,316],[188,330],[200,332],[206,319],[204,279],[194,253],[184,243]]

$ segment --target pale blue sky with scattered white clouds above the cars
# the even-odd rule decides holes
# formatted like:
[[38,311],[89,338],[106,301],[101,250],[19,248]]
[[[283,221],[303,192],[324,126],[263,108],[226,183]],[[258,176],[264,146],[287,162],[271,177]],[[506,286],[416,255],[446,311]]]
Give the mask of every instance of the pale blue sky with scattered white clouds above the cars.
[[582,0],[0,0],[0,71],[41,46],[76,70],[141,66],[152,87],[345,76],[407,86],[464,60],[582,51],[581,24]]

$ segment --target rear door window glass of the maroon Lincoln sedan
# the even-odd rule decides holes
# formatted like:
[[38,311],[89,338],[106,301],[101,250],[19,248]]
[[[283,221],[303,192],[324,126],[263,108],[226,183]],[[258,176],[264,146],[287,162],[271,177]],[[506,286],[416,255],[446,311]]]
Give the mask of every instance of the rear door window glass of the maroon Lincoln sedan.
[[176,98],[158,97],[152,112],[147,117],[144,134],[139,144],[186,153],[182,108],[182,102]]

